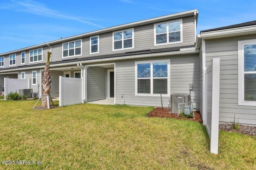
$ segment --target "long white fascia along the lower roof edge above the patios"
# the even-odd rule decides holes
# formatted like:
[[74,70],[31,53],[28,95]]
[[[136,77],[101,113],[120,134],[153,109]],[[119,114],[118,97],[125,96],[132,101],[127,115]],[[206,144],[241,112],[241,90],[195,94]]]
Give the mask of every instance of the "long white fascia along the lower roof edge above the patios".
[[[94,60],[85,60],[85,61],[73,61],[68,63],[60,63],[60,64],[50,64],[51,68],[58,67],[58,66],[69,66],[72,64],[82,63],[82,64],[88,64],[88,63],[99,63],[99,62],[110,62],[110,61],[119,61],[119,60],[127,60],[127,59],[139,59],[139,58],[146,58],[146,57],[162,57],[166,55],[185,55],[185,54],[197,54],[199,53],[198,49],[190,49],[186,51],[170,51],[165,53],[153,53],[153,54],[142,54],[142,55],[130,55],[130,56],[121,56],[121,57],[112,57],[112,58],[104,58],[104,59],[94,59]],[[38,69],[38,68],[44,68],[44,65],[42,66],[34,66],[34,67],[26,67],[26,68],[16,68],[16,69],[10,69],[10,70],[2,70],[0,73],[3,72],[13,72],[18,70],[26,70],[26,69]],[[54,68],[53,68],[54,69]]]

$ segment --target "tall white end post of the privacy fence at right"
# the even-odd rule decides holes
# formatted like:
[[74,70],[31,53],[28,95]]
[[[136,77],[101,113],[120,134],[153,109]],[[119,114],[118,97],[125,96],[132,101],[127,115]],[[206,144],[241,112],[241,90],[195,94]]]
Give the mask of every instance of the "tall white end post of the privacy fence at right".
[[220,108],[220,59],[212,59],[212,123],[210,152],[218,154]]

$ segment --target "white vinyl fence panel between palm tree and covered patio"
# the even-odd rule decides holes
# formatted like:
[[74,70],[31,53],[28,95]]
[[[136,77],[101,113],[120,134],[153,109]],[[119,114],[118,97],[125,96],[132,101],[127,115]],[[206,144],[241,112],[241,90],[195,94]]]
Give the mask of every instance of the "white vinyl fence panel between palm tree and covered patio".
[[60,76],[60,106],[83,103],[82,81],[82,78]]

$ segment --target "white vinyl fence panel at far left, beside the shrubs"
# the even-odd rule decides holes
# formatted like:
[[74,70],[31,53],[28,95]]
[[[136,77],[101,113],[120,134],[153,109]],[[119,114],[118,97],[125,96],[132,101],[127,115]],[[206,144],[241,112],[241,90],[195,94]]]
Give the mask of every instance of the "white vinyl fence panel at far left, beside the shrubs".
[[30,80],[17,78],[4,78],[4,100],[10,92],[19,92],[20,89],[29,89]]

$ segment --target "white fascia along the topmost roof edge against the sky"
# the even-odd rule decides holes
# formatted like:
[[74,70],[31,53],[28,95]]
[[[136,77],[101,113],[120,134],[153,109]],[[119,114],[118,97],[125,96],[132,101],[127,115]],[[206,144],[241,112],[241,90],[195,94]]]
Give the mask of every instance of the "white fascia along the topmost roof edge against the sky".
[[80,38],[83,38],[83,37],[89,37],[89,36],[92,36],[92,35],[98,35],[98,34],[102,34],[102,33],[106,33],[106,32],[117,31],[117,30],[120,30],[120,29],[136,27],[136,26],[139,26],[139,25],[146,25],[146,24],[160,22],[160,21],[164,21],[164,20],[173,20],[173,19],[176,19],[176,18],[183,18],[183,17],[187,17],[187,16],[193,16],[194,12],[198,12],[198,11],[197,10],[190,10],[190,11],[170,14],[170,15],[166,15],[166,16],[150,18],[150,19],[147,19],[147,20],[142,20],[142,21],[136,21],[136,22],[126,23],[126,24],[122,24],[122,25],[117,25],[117,26],[114,26],[114,27],[108,27],[108,28],[97,30],[97,31],[92,31],[92,32],[88,32],[88,33],[84,33],[84,34],[80,34],[80,35],[75,35],[75,36],[72,36],[72,37],[67,37],[67,38],[58,39],[58,40],[55,40],[55,41],[50,41],[50,42],[47,42],[47,43],[42,43],[42,44],[39,44],[39,45],[34,45],[34,46],[31,46],[31,47],[26,47],[26,48],[23,48],[23,49],[9,51],[9,52],[0,54],[0,56],[8,55],[8,54],[11,54],[11,53],[18,53],[18,52],[21,52],[21,51],[26,51],[26,50],[30,50],[30,49],[39,48],[39,47],[45,47],[45,46],[48,46],[48,45],[54,45],[56,43],[63,43],[63,42],[66,42],[66,41],[71,41],[71,40],[74,40],[74,39],[80,39]]

